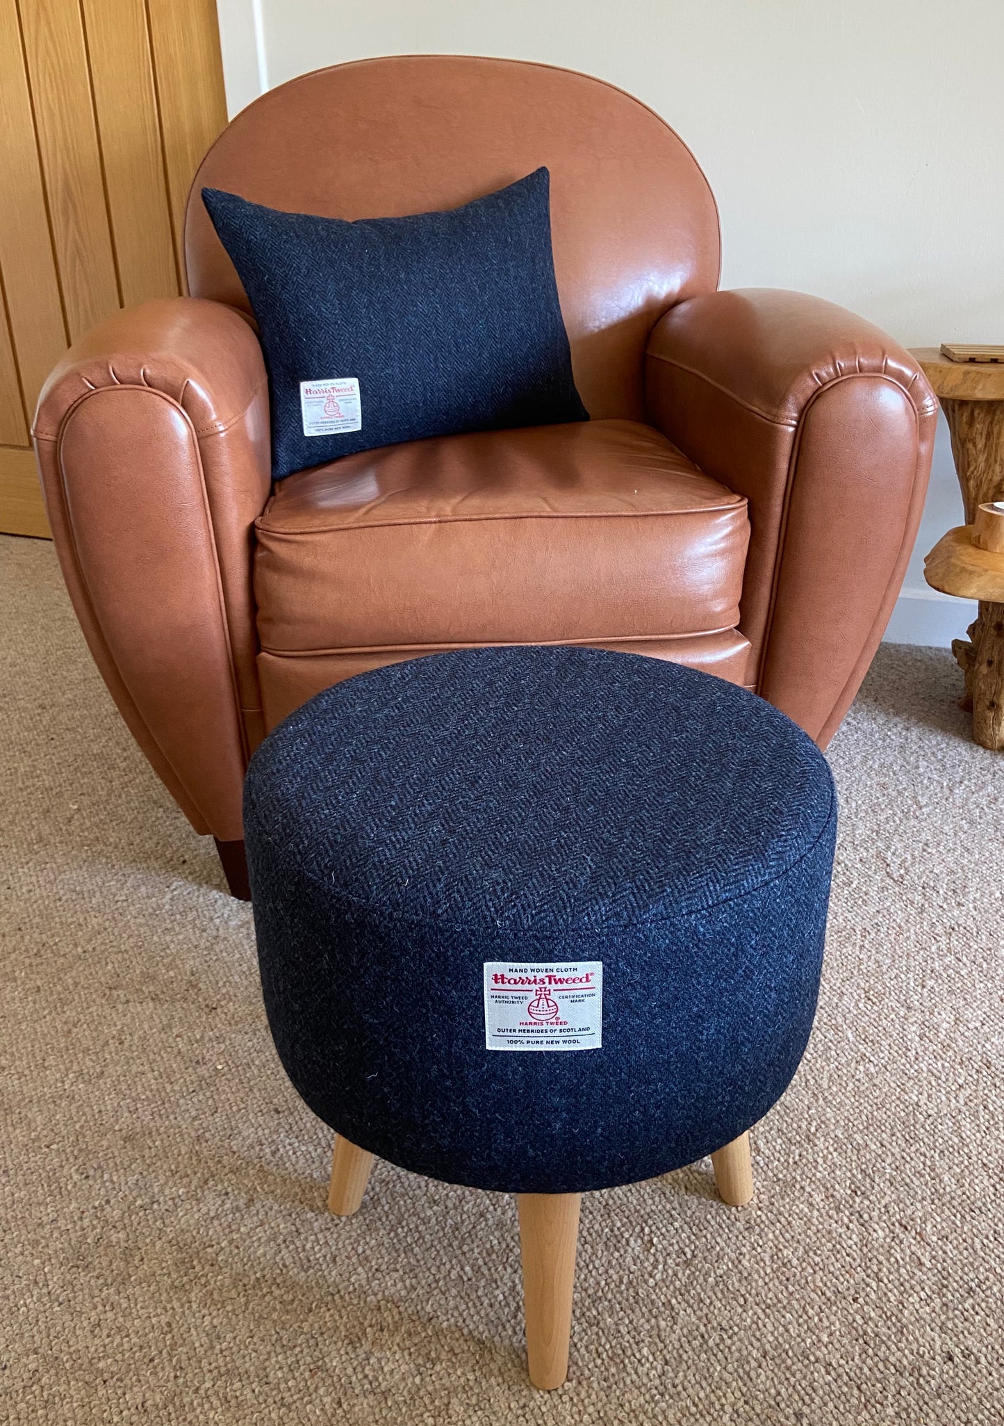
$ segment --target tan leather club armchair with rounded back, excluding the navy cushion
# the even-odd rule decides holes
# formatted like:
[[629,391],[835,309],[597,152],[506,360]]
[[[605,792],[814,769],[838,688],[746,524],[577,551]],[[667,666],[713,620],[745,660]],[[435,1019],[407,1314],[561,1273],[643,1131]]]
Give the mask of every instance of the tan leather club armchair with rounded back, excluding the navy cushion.
[[[365,452],[272,491],[262,352],[202,185],[357,218],[456,207],[540,164],[591,421]],[[34,439],[91,652],[235,891],[265,730],[393,659],[628,649],[745,683],[827,742],[900,588],[936,402],[850,312],[716,291],[715,201],[651,110],[508,60],[306,74],[212,147],[185,251],[192,295],[77,342]]]

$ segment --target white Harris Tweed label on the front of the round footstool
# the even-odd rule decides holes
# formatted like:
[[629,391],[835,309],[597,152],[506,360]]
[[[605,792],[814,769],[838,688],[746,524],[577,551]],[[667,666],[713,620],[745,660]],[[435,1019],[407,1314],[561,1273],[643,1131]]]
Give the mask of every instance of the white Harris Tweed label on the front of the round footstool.
[[602,961],[486,961],[484,1044],[488,1050],[600,1050]]

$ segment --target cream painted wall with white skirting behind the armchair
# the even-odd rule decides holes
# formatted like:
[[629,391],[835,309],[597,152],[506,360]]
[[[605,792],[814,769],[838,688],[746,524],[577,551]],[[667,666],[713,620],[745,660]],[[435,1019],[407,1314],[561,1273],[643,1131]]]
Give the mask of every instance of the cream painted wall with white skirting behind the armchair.
[[[1004,342],[1004,0],[218,0],[231,111],[373,54],[544,60],[629,90],[695,151],[723,287],[789,287],[907,347]],[[971,606],[921,555],[961,522],[944,424],[887,637],[947,643]]]

